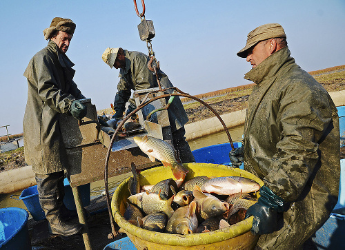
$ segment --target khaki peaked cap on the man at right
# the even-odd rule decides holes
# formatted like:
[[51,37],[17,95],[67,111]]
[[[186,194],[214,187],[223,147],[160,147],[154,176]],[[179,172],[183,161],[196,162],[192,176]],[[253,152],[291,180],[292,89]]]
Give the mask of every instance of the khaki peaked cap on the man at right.
[[247,50],[252,48],[260,41],[278,37],[286,38],[286,34],[282,25],[280,25],[279,23],[267,23],[261,25],[255,30],[249,32],[247,36],[246,46],[242,50],[239,50],[239,52],[237,52],[237,56],[246,58]]

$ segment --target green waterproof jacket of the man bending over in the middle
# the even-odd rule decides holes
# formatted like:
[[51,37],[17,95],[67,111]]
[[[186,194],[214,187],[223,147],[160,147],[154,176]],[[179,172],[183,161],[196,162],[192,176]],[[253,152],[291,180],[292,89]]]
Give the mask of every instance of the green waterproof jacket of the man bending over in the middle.
[[[117,94],[115,96],[114,108],[116,112],[124,112],[126,102],[130,99],[131,90],[146,90],[151,87],[158,87],[156,76],[148,69],[150,58],[141,52],[124,50],[126,67],[120,69],[120,81],[117,85]],[[168,76],[159,70],[161,76],[160,82],[162,88],[173,87]],[[170,94],[173,90],[167,90]],[[134,98],[130,103],[135,106]],[[188,122],[188,116],[184,106],[178,96],[175,96],[170,107],[168,116],[172,132],[183,127]]]

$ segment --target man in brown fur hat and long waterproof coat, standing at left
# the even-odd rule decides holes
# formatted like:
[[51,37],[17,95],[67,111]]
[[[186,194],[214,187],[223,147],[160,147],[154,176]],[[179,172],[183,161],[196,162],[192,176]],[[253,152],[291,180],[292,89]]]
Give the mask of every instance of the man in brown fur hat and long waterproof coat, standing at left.
[[64,170],[68,166],[60,132],[60,117],[80,119],[85,98],[73,81],[74,65],[66,56],[75,23],[55,17],[43,30],[48,45],[35,54],[24,76],[28,80],[28,101],[23,119],[25,158],[35,173],[39,202],[49,222],[50,233],[70,236],[81,230],[79,223],[67,222],[63,205]]

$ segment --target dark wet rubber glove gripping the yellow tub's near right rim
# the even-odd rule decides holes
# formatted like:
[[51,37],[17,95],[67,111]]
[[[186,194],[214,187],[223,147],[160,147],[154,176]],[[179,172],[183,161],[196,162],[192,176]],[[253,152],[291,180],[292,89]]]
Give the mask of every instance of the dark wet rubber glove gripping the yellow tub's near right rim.
[[277,231],[278,214],[284,211],[284,200],[276,196],[268,187],[260,188],[260,198],[257,203],[246,211],[246,217],[254,216],[250,230],[254,235]]

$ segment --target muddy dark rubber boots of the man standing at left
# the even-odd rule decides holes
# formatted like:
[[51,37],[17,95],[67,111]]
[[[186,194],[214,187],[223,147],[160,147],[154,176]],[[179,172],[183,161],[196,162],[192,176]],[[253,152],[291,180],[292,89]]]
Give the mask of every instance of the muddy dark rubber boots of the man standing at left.
[[65,193],[63,171],[52,174],[36,174],[35,178],[37,190],[39,191],[39,204],[46,214],[50,233],[62,236],[72,236],[75,233],[79,233],[81,231],[79,223],[66,222],[61,216],[61,207]]

